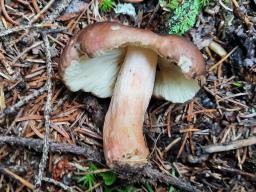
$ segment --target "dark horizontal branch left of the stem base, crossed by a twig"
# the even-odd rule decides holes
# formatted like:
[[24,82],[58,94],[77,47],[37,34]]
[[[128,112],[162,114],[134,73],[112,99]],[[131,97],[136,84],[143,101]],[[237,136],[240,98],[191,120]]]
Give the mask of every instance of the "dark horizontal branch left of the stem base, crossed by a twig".
[[[24,137],[12,137],[12,136],[0,136],[0,145],[8,144],[12,146],[26,147],[33,149],[36,152],[43,151],[43,140],[31,139]],[[75,155],[82,155],[90,161],[102,163],[103,155],[99,150],[96,150],[88,145],[79,147],[77,145],[66,144],[66,143],[55,143],[49,141],[49,151],[57,153],[71,153]]]

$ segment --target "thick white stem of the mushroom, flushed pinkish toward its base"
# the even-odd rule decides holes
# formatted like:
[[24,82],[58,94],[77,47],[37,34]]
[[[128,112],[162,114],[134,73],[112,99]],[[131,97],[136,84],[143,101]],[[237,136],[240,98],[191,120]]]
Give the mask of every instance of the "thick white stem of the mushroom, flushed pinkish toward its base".
[[155,52],[128,47],[103,128],[104,154],[109,166],[147,162],[149,151],[143,122],[154,88],[156,65]]

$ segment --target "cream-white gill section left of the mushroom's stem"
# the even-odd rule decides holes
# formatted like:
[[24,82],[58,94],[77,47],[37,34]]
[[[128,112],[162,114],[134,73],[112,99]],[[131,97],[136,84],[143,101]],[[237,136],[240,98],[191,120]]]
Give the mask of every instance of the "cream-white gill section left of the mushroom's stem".
[[64,82],[74,92],[83,90],[99,98],[111,97],[124,55],[125,49],[101,52],[93,58],[83,55],[71,61]]

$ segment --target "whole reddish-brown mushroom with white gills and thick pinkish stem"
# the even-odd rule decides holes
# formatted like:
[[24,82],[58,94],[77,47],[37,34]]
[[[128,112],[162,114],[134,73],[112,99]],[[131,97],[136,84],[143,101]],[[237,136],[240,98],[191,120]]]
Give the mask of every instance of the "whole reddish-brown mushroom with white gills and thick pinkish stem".
[[60,57],[60,75],[70,90],[112,96],[103,127],[110,167],[147,163],[143,122],[151,96],[190,100],[204,72],[203,56],[190,41],[109,22],[81,30]]

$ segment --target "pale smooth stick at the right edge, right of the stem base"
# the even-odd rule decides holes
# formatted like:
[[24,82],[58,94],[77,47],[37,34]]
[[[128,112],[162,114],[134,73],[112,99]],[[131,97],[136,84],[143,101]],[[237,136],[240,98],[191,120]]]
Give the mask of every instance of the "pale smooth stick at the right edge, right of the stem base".
[[256,144],[256,136],[251,136],[247,139],[232,141],[230,143],[207,145],[203,149],[205,153],[217,153],[217,152],[239,149],[242,147],[247,147],[255,144]]

